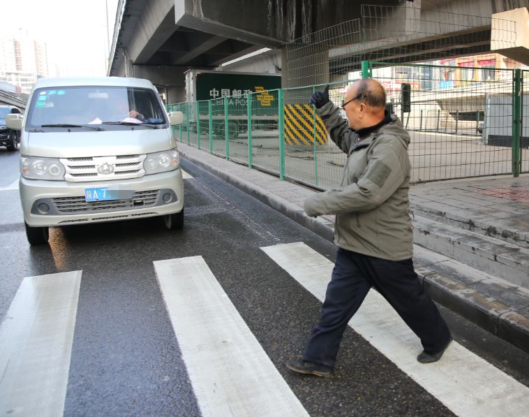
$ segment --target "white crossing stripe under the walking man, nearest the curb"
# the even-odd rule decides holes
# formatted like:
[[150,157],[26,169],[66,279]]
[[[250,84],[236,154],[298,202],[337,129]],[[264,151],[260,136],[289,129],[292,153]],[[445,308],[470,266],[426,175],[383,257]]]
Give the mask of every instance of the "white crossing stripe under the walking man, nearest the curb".
[[[325,299],[334,263],[302,242],[261,249],[316,298]],[[528,413],[529,388],[456,342],[439,362],[419,364],[419,339],[376,291],[369,291],[349,325],[458,416]]]

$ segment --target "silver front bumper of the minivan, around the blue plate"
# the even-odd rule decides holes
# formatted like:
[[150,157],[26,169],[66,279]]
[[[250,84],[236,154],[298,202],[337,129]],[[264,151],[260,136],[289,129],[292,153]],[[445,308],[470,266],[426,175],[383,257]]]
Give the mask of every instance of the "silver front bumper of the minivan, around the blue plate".
[[[106,187],[118,198],[87,202],[85,189]],[[181,169],[131,180],[66,182],[20,177],[20,200],[29,226],[67,226],[163,216],[181,212],[184,183]]]

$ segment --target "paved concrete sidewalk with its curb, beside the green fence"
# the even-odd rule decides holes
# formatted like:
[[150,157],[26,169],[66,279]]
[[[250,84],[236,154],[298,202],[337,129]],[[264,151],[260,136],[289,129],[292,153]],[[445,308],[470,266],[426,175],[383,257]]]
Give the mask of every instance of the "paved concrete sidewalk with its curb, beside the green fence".
[[[332,241],[334,216],[306,216],[319,191],[184,143],[181,156]],[[410,189],[414,263],[431,297],[529,352],[529,175]]]

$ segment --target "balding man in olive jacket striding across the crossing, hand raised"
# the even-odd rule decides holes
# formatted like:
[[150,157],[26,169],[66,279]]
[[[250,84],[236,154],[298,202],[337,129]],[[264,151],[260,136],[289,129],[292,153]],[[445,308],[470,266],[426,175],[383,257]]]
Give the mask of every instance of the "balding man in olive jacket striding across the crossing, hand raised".
[[331,139],[348,155],[338,189],[307,198],[308,216],[336,214],[338,245],[320,323],[303,358],[286,366],[301,374],[331,376],[348,322],[374,287],[422,342],[420,363],[439,360],[452,341],[449,329],[413,269],[413,236],[408,189],[410,136],[395,115],[385,111],[379,82],[355,82],[341,107],[349,125],[329,101],[329,86],[311,103]]

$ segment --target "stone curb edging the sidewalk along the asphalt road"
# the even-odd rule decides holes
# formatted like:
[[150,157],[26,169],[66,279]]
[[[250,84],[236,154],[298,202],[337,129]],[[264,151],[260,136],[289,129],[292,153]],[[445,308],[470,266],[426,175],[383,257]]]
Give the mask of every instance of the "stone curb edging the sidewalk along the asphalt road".
[[[308,228],[325,240],[334,241],[334,224],[331,222],[324,221],[319,217],[308,217],[297,205],[285,200],[285,198],[276,196],[274,193],[235,175],[230,175],[230,173],[225,172],[221,168],[212,166],[195,158],[195,156],[187,154],[184,149],[180,148],[179,152],[188,161],[204,168],[221,180],[228,182],[228,184],[232,184],[297,222],[297,224]],[[443,277],[428,268],[417,268],[416,266],[415,272],[417,272],[424,288],[434,301],[500,339],[529,353],[529,309],[526,315],[523,315],[521,312],[515,311],[494,298],[486,297],[482,293],[475,291],[475,289],[447,279],[447,277]]]

